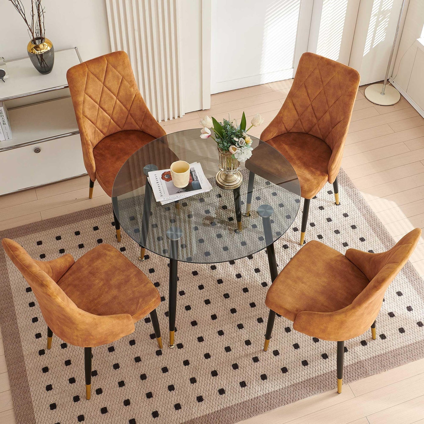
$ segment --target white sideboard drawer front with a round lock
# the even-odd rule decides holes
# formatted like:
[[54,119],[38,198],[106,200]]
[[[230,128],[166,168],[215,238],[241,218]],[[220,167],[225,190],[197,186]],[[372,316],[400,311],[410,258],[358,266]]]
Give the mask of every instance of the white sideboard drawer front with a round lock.
[[0,195],[84,173],[79,134],[6,150],[0,152]]

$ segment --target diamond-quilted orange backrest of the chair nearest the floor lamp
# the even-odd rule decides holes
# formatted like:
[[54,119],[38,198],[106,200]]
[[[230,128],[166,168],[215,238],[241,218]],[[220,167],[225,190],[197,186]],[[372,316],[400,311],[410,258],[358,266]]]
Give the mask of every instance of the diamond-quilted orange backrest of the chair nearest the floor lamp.
[[261,140],[287,132],[307,133],[324,140],[334,153],[332,162],[337,162],[334,172],[329,165],[329,180],[333,182],[340,169],[341,154],[337,152],[343,152],[359,80],[357,71],[349,66],[315,53],[303,53],[287,98],[262,131]]

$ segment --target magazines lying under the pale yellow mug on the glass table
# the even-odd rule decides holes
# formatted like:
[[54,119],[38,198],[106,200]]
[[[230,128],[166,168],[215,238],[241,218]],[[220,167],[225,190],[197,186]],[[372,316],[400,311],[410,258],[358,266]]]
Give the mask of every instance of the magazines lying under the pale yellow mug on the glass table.
[[212,190],[212,185],[205,177],[202,166],[198,162],[190,164],[190,179],[187,187],[175,187],[169,169],[150,171],[148,181],[156,201],[162,205]]

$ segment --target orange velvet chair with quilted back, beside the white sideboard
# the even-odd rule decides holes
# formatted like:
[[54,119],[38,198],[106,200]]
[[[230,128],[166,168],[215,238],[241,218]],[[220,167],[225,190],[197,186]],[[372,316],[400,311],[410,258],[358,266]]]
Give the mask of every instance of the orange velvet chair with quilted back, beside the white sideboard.
[[[144,102],[128,55],[123,51],[100,56],[70,68],[66,74],[80,131],[84,165],[90,177],[89,198],[97,179],[112,197],[115,177],[139,148],[166,133]],[[164,167],[178,160],[167,143],[156,146]],[[168,163],[169,162],[169,163]],[[144,182],[143,182],[144,184]],[[112,197],[117,209],[117,198]],[[119,216],[114,224],[121,241]],[[144,254],[143,254],[144,257]]]

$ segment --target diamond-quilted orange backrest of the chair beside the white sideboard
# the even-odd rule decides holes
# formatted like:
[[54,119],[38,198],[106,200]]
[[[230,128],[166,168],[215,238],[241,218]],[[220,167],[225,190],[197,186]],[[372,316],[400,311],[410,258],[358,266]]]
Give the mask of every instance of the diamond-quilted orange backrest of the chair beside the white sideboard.
[[81,136],[84,164],[95,180],[93,149],[118,131],[139,130],[165,135],[143,100],[123,51],[75,65],[66,74]]

